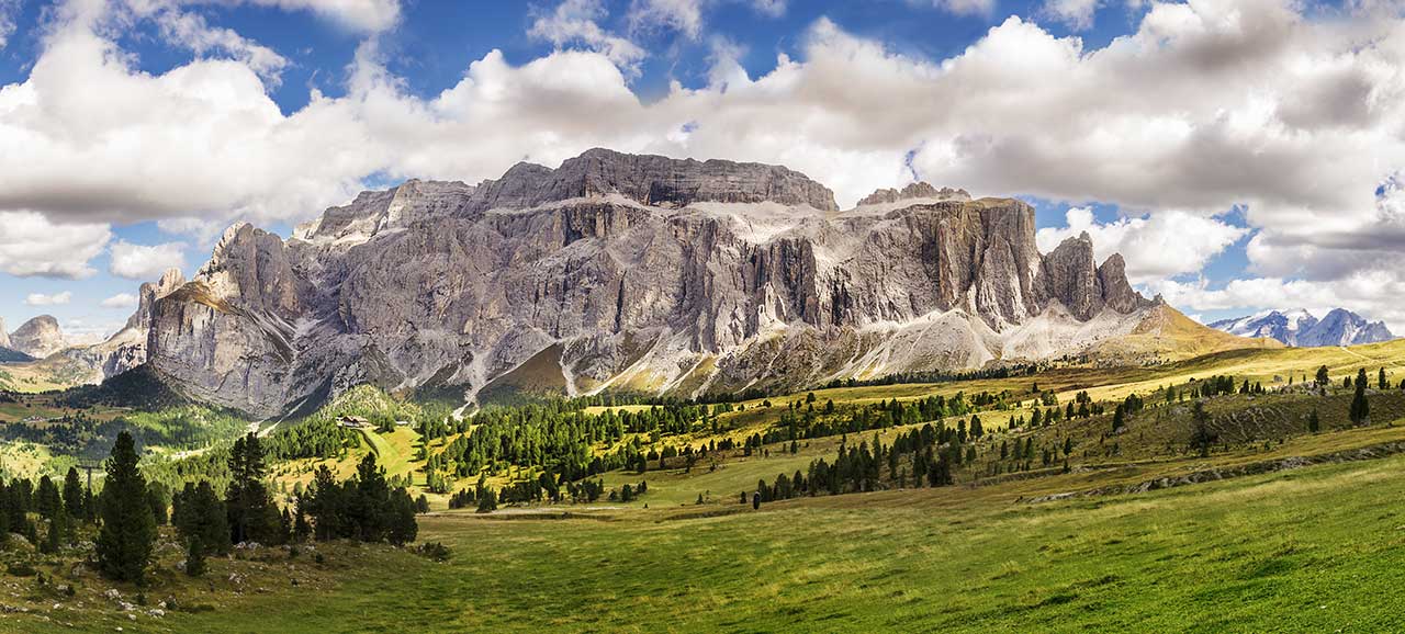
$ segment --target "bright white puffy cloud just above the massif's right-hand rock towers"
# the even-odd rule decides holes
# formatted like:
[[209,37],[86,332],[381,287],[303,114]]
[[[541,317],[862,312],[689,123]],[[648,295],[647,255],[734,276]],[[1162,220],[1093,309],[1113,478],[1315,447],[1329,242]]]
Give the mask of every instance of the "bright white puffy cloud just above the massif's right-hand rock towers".
[[1086,231],[1099,262],[1114,252],[1123,254],[1132,283],[1197,272],[1249,233],[1214,217],[1184,212],[1121,217],[1103,224],[1093,219],[1092,209],[1071,208],[1065,219],[1065,227],[1038,230],[1040,251],[1050,252],[1064,240]]

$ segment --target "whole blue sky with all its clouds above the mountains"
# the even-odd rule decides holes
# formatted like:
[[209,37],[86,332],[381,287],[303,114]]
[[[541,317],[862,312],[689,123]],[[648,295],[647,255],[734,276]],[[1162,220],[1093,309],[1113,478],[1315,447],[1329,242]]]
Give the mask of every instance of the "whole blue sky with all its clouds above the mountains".
[[1196,318],[1405,334],[1401,0],[0,0],[0,318],[101,338],[236,222],[597,146],[1017,196]]

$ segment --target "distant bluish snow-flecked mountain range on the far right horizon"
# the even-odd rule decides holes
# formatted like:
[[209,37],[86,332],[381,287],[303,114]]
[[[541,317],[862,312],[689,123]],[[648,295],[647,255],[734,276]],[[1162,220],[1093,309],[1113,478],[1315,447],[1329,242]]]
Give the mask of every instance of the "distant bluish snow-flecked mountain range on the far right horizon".
[[1300,348],[1375,344],[1395,338],[1384,321],[1367,321],[1346,309],[1333,309],[1321,320],[1301,309],[1269,310],[1249,317],[1220,320],[1210,327],[1239,337],[1269,337]]

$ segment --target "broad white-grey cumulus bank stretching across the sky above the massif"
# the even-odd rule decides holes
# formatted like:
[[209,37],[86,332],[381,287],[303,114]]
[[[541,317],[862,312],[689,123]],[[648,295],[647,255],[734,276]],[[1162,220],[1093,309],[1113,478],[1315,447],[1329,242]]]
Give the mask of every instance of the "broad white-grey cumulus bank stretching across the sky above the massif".
[[[635,7],[672,7],[653,14],[690,32],[694,4]],[[608,146],[787,164],[842,205],[917,175],[1118,205],[1127,236],[1163,236],[1163,216],[1221,231],[1138,264],[1144,279],[1218,252],[1234,229],[1214,217],[1232,208],[1255,230],[1248,251],[1263,278],[1395,275],[1405,21],[1304,11],[1293,0],[1151,3],[1102,48],[1012,17],[947,59],[821,20],[760,76],[717,55],[708,86],[674,84],[646,104],[629,87],[642,49],[600,27],[600,3],[568,0],[532,22],[559,48],[544,58],[510,65],[492,52],[420,97],[368,43],[344,95],[313,93],[291,114],[251,58],[221,48],[232,59],[146,74],[103,29],[67,20],[30,77],[0,88],[0,209],[84,223],[298,220],[371,174],[472,182]]]

